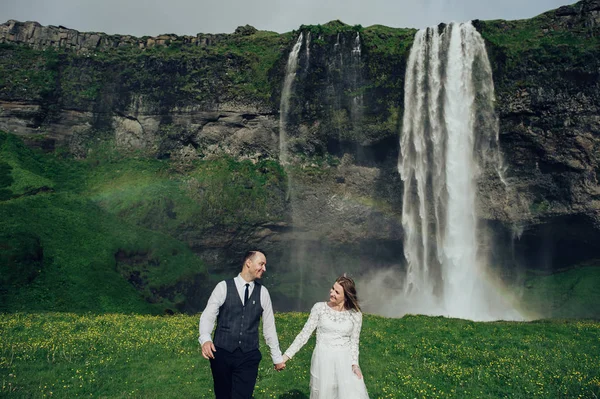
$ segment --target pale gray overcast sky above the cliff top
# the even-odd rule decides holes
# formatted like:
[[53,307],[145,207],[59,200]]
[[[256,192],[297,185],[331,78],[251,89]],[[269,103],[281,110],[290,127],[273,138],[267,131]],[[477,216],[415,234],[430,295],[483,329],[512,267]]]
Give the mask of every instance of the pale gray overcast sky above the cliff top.
[[0,0],[9,19],[78,31],[156,36],[231,33],[240,25],[279,33],[339,19],[364,27],[424,28],[471,19],[522,19],[573,0]]

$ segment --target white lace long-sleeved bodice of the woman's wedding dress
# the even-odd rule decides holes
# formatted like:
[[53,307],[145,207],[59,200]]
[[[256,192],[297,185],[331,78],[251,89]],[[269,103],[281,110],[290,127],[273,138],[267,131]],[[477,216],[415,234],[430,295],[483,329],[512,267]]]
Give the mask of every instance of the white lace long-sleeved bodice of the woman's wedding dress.
[[331,309],[326,302],[316,303],[302,331],[287,351],[290,359],[306,344],[315,328],[317,329],[317,345],[326,345],[331,349],[347,348],[352,354],[352,364],[358,365],[358,341],[362,327],[362,313],[353,310],[338,312]]

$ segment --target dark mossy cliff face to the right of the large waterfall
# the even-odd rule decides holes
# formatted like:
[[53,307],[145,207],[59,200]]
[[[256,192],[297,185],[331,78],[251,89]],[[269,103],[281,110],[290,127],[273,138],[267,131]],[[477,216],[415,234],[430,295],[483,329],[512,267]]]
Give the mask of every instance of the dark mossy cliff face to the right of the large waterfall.
[[509,188],[507,197],[499,187],[482,192],[496,204],[487,205],[490,219],[512,220],[507,245],[533,267],[600,255],[599,23],[597,0],[476,23],[494,68]]

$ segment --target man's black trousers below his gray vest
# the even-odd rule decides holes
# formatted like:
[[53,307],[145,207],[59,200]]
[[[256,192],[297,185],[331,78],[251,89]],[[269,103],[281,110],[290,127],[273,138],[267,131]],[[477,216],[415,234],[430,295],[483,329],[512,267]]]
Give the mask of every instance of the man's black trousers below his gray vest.
[[215,347],[215,358],[210,359],[216,399],[251,399],[258,376],[262,355],[258,349],[242,352],[240,348],[228,352]]

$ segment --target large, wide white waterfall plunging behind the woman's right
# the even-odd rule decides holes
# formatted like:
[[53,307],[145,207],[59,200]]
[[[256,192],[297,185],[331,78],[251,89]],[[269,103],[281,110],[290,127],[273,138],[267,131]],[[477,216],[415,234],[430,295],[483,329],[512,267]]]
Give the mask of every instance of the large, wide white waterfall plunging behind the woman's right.
[[417,32],[404,98],[405,313],[519,318],[488,278],[480,245],[478,178],[492,167],[504,179],[492,71],[471,23]]

